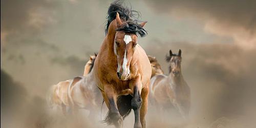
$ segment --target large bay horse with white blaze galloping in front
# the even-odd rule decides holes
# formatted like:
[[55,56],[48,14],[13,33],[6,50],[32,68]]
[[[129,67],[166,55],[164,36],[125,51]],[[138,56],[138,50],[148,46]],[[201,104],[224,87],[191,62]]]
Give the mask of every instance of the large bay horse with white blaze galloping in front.
[[138,36],[147,32],[146,22],[138,23],[134,10],[113,2],[108,9],[106,36],[95,59],[94,77],[109,109],[103,122],[122,127],[134,110],[134,127],[145,127],[151,64],[138,45]]

